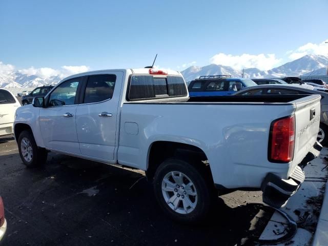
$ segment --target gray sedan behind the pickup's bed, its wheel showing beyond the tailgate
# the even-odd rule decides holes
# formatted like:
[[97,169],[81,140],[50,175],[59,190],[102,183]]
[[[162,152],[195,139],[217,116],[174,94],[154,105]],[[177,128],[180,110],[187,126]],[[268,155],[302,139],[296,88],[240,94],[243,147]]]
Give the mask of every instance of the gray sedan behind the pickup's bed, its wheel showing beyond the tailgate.
[[328,142],[328,93],[305,89],[300,85],[286,84],[286,85],[262,85],[258,87],[249,87],[241,90],[234,95],[295,95],[295,94],[317,94],[321,95],[321,114],[320,127],[317,141],[322,145]]

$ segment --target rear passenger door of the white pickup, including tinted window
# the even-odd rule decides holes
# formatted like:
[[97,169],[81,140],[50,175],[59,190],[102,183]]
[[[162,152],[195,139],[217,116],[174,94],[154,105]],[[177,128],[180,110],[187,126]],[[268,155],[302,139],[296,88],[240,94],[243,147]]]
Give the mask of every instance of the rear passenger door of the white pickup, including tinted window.
[[113,160],[123,73],[90,75],[81,90],[76,130],[81,154]]

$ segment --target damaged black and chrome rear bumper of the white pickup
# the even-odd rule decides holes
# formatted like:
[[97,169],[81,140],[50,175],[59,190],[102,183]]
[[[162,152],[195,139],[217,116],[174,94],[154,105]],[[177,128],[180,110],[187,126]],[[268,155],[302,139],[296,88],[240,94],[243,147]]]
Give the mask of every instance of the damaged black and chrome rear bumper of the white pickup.
[[322,146],[319,142],[316,142],[302,162],[296,166],[288,179],[282,179],[273,173],[265,176],[261,185],[263,202],[273,208],[284,207],[289,198],[297,192],[305,180],[303,168],[309,161],[319,156],[321,149]]

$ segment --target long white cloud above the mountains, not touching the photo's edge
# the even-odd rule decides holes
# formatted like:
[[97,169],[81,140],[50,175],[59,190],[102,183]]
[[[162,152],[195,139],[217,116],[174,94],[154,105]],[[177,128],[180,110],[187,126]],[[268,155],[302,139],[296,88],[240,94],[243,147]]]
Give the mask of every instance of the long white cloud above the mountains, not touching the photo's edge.
[[234,69],[258,68],[260,70],[269,70],[279,65],[281,59],[276,58],[275,54],[231,55],[219,53],[214,55],[210,62],[217,65],[230,66]]

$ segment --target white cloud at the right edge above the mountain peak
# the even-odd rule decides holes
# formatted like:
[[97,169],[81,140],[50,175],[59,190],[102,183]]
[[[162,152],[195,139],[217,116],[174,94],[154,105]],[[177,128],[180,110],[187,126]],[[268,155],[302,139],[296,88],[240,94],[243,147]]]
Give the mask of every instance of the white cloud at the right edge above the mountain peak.
[[304,55],[308,54],[315,54],[315,55],[328,55],[328,44],[325,44],[325,42],[328,42],[328,39],[324,40],[320,44],[313,44],[308,43],[305,44],[296,50],[293,50],[291,54],[289,55],[290,59],[298,59]]

